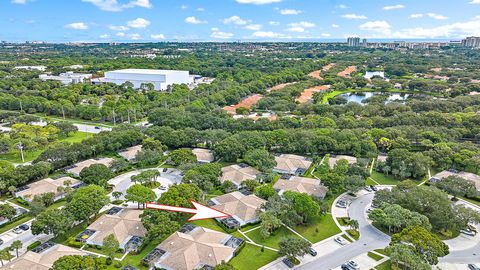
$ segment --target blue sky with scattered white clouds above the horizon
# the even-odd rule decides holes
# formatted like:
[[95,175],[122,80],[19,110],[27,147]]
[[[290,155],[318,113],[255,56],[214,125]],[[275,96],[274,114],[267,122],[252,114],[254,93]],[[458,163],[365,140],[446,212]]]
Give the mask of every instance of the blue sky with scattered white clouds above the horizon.
[[0,40],[459,39],[480,0],[0,0]]

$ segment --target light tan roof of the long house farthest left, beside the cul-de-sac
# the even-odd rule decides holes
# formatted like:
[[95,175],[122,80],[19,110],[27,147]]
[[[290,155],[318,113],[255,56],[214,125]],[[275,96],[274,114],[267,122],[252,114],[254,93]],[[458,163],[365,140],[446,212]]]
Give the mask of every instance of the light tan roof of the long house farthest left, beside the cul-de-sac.
[[16,192],[15,195],[17,197],[22,197],[27,200],[32,200],[35,195],[41,195],[45,193],[54,193],[56,196],[58,196],[61,194],[60,192],[58,192],[58,188],[65,187],[66,182],[70,182],[70,186],[75,186],[81,181],[71,177],[62,177],[56,180],[52,178],[45,178],[29,184],[27,189]]

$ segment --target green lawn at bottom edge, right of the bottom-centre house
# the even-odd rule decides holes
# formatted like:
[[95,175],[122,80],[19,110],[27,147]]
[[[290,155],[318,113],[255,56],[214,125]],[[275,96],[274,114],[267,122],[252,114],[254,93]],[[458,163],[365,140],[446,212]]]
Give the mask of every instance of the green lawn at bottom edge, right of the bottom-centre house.
[[278,258],[274,251],[246,243],[240,253],[229,263],[237,270],[258,269]]

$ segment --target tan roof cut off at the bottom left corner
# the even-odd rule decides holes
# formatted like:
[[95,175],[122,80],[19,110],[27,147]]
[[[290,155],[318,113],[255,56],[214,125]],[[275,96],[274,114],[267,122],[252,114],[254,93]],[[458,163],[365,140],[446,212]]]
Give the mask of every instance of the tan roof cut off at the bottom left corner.
[[87,253],[57,244],[41,253],[27,251],[27,253],[20,256],[18,259],[9,262],[2,268],[14,270],[48,270],[53,266],[53,263],[56,260],[68,255],[84,256],[87,255]]

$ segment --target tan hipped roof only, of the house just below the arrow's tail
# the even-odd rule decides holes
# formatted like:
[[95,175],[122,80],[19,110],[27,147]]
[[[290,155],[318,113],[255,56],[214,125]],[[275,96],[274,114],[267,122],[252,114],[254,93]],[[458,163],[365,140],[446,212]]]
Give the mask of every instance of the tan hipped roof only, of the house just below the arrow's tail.
[[102,243],[110,234],[113,234],[120,244],[129,236],[144,237],[147,230],[140,218],[142,213],[139,209],[126,208],[115,215],[101,216],[87,228],[96,232],[89,241]]

